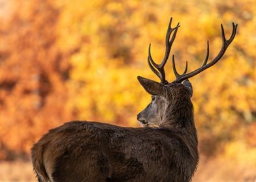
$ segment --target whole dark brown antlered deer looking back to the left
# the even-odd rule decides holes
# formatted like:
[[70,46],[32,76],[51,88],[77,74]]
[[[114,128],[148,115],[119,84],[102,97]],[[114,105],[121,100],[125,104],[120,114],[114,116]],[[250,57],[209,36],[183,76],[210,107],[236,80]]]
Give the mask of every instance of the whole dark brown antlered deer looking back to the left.
[[102,122],[72,121],[50,129],[31,148],[38,181],[191,181],[199,163],[198,137],[194,122],[193,88],[189,78],[216,64],[236,35],[237,24],[222,47],[208,62],[209,42],[202,66],[187,73],[172,67],[176,79],[165,79],[165,64],[180,23],[168,23],[165,55],[156,64],[148,48],[148,65],[160,82],[138,76],[152,96],[137,115],[142,127],[121,127]]

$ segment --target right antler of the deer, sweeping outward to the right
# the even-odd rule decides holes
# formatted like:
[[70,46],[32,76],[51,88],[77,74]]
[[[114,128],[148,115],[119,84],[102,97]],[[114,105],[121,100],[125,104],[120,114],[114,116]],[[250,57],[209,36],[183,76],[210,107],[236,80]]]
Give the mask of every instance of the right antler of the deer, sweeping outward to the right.
[[209,57],[209,41],[207,41],[207,51],[206,51],[206,57],[204,59],[204,63],[202,64],[202,66],[200,68],[197,68],[197,70],[194,70],[193,72],[187,73],[187,62],[186,62],[185,71],[182,75],[180,75],[176,70],[174,55],[172,55],[172,67],[173,67],[174,74],[176,76],[176,80],[173,81],[173,83],[182,83],[182,81],[184,81],[185,79],[189,79],[190,77],[193,77],[193,76],[197,75],[198,73],[200,73],[200,72],[206,70],[207,68],[210,68],[214,64],[216,64],[216,62],[218,62],[221,59],[221,57],[223,57],[225,51],[227,50],[227,47],[229,47],[229,44],[231,44],[232,40],[234,40],[234,36],[236,36],[237,26],[238,26],[237,24],[232,23],[232,34],[231,34],[231,37],[229,38],[229,40],[227,40],[225,38],[225,32],[223,29],[223,25],[221,24],[222,47],[221,47],[219,53],[217,54],[216,58],[214,58],[211,62],[207,63],[208,57]]

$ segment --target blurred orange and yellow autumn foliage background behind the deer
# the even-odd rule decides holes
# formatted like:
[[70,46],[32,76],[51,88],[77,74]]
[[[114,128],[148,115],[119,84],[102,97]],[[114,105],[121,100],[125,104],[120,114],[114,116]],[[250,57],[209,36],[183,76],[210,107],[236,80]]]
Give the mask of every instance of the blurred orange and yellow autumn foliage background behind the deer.
[[[256,181],[256,1],[0,0],[0,181],[36,181],[30,148],[69,120],[139,127],[150,102],[136,76],[158,81],[170,17],[172,53],[189,72],[236,38],[223,59],[190,79],[200,163],[193,181]],[[165,68],[174,79],[170,61]]]

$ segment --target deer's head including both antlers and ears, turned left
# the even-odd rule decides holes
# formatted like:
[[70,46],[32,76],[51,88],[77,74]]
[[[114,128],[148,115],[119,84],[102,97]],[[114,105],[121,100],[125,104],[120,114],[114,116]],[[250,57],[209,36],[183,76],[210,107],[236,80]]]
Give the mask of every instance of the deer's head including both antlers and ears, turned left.
[[[174,74],[176,79],[171,83],[165,79],[165,64],[168,60],[168,56],[170,54],[170,49],[172,47],[172,43],[174,42],[176,33],[178,31],[178,27],[180,27],[180,23],[176,25],[176,27],[171,27],[172,18],[170,18],[170,23],[168,25],[165,44],[165,56],[161,62],[161,64],[156,64],[151,56],[150,47],[148,49],[148,65],[151,70],[159,77],[161,80],[160,83],[152,81],[150,79],[146,79],[143,77],[138,77],[138,81],[144,87],[146,92],[152,95],[151,103],[146,107],[146,109],[142,110],[137,116],[137,119],[142,125],[150,126],[164,126],[171,125],[180,126],[184,125],[184,120],[189,119],[189,117],[193,118],[193,105],[191,103],[191,96],[193,95],[193,88],[191,83],[189,83],[189,78],[197,75],[198,73],[210,68],[218,60],[223,57],[227,47],[231,44],[234,36],[236,35],[237,24],[232,23],[232,34],[231,37],[227,40],[225,38],[225,32],[223,29],[223,25],[221,24],[221,36],[222,36],[222,47],[217,54],[217,56],[211,61],[208,62],[209,57],[209,42],[207,42],[206,49],[206,57],[204,63],[200,68],[194,70],[193,72],[187,73],[187,62],[185,65],[184,73],[179,74],[175,67],[174,55],[172,55],[172,67],[174,70]],[[170,36],[172,37],[170,38]],[[176,125],[174,125],[176,123]]]

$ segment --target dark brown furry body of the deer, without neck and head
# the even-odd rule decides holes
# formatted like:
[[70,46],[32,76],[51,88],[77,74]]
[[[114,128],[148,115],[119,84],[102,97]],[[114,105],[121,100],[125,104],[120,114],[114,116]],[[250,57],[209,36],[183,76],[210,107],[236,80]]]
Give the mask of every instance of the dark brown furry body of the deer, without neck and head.
[[96,122],[65,123],[33,151],[42,181],[190,181],[198,162],[182,131]]

